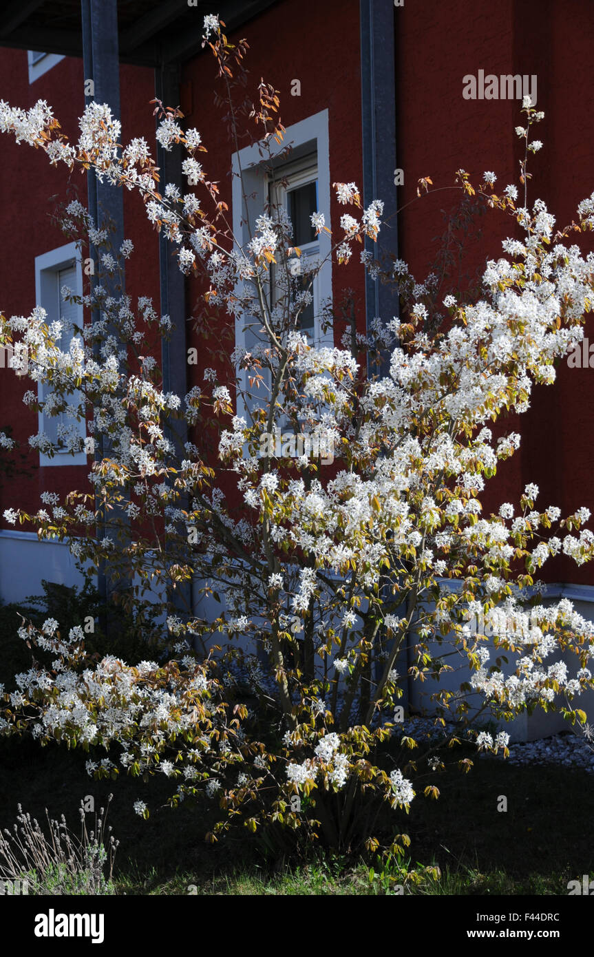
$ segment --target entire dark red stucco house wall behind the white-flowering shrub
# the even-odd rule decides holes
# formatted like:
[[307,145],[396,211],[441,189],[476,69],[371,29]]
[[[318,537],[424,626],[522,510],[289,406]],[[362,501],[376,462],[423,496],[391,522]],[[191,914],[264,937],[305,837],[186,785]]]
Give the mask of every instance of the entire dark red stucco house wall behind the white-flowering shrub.
[[[456,199],[453,174],[467,169],[474,181],[493,170],[497,186],[518,183],[521,147],[514,127],[522,122],[517,100],[465,100],[465,75],[486,73],[536,74],[538,108],[545,111],[536,136],[544,148],[531,160],[534,179],[530,200],[542,197],[559,225],[568,222],[578,202],[594,189],[594,81],[589,51],[594,40],[594,8],[590,0],[565,4],[552,0],[501,0],[497,4],[438,3],[414,0],[395,14],[397,163],[405,171],[399,189],[401,256],[417,278],[423,278],[437,250],[433,237],[444,231],[442,211]],[[289,126],[319,110],[329,111],[330,181],[362,184],[361,64],[357,0],[281,0],[263,11],[242,30],[250,43],[246,65],[249,88],[255,95],[260,78],[280,93],[280,116]],[[238,34],[231,38],[236,39]],[[200,130],[209,152],[202,158],[212,179],[220,183],[221,197],[231,208],[231,145],[221,136],[220,110],[213,103],[215,66],[212,57],[196,56],[183,71],[187,123]],[[291,96],[291,81],[299,79],[300,97]],[[42,97],[55,108],[67,133],[76,135],[82,109],[82,65],[64,59],[30,86],[25,52],[0,51],[0,89],[5,99],[29,106]],[[79,91],[74,96],[73,91]],[[121,70],[124,141],[144,135],[152,144],[152,71]],[[172,104],[177,105],[177,104]],[[416,198],[417,180],[429,175],[434,188]],[[84,199],[85,178],[74,175]],[[61,244],[61,234],[49,223],[48,197],[64,194],[68,174],[48,166],[30,147],[0,142],[0,207],[3,260],[0,273],[0,309],[28,313],[33,306],[34,256]],[[381,198],[381,197],[380,197]],[[335,200],[331,225],[337,229],[343,209]],[[139,197],[125,196],[125,234],[137,247],[131,260],[128,291],[152,294],[158,302],[158,259],[154,234],[146,228]],[[470,245],[465,263],[472,271],[486,257],[500,254],[500,239],[517,227],[490,212],[481,221],[482,238]],[[584,237],[584,250],[591,247]],[[142,263],[141,263],[142,259]],[[187,316],[200,295],[199,284],[188,286]],[[333,295],[352,287],[359,302],[359,324],[364,326],[363,276],[358,256],[347,267],[333,269]],[[444,292],[447,290],[444,290]],[[586,323],[594,343],[594,321]],[[192,334],[189,345],[198,345]],[[1,371],[1,370],[0,370]],[[190,384],[202,385],[200,367],[189,367]],[[194,377],[194,378],[192,378]],[[36,431],[33,416],[20,402],[28,388],[12,373],[0,375],[0,428],[9,422],[15,437]],[[559,370],[556,386],[539,387],[532,408],[509,428],[523,435],[517,456],[503,465],[496,494],[487,504],[517,501],[523,485],[536,481],[541,507],[552,503],[564,513],[581,504],[594,513],[591,474],[594,466],[594,369]],[[32,464],[37,456],[32,456]],[[85,469],[38,470],[31,479],[0,493],[0,513],[9,505],[35,508],[41,488],[65,492],[84,481]],[[41,474],[41,473],[45,474]],[[563,560],[551,563],[553,580],[592,583],[594,571],[577,569]]]

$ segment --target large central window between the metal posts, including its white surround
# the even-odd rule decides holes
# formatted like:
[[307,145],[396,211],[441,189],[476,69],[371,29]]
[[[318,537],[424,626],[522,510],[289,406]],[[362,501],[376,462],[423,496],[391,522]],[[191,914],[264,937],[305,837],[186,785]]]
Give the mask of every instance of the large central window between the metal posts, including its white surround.
[[[317,345],[334,345],[332,329],[322,333],[320,313],[322,303],[332,295],[332,265],[330,262],[331,238],[327,233],[318,236],[311,225],[312,212],[323,212],[326,224],[330,225],[330,165],[328,150],[328,111],[322,110],[306,120],[288,126],[281,144],[274,144],[280,154],[287,145],[292,145],[287,159],[278,156],[275,165],[275,179],[271,181],[265,170],[257,145],[246,146],[234,153],[233,168],[233,234],[243,245],[249,241],[248,218],[254,223],[267,203],[282,205],[286,209],[294,228],[296,245],[303,259],[304,284],[309,285],[308,265],[321,263],[319,274],[315,278],[311,292],[313,302],[300,315],[303,332],[309,335]],[[242,197],[241,182],[238,176],[239,166],[243,170],[246,198]],[[283,182],[284,181],[284,182]],[[298,263],[296,262],[298,266]],[[275,300],[276,279],[274,268],[271,270],[271,300]],[[261,341],[259,326],[250,323],[249,317],[238,316],[235,321],[235,345],[246,350]],[[261,402],[262,390],[250,387],[245,371],[238,373],[244,392],[248,396],[248,405]],[[237,400],[237,414],[246,413],[244,402]]]

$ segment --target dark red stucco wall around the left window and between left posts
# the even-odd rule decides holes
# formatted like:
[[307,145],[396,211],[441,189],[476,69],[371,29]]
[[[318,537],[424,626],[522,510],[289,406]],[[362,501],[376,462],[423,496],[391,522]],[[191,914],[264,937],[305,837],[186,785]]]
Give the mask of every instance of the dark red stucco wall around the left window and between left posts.
[[[59,120],[62,131],[77,141],[77,119],[84,109],[82,60],[65,57],[51,70],[30,84],[27,52],[0,50],[0,90],[13,106],[27,109],[36,100],[47,100]],[[121,68],[121,121],[124,142],[144,136],[154,142],[154,120],[149,100],[154,97],[152,70]],[[86,204],[86,174],[78,169],[51,167],[45,153],[29,145],[16,145],[7,135],[0,140],[0,229],[3,236],[0,270],[0,310],[7,315],[29,315],[35,305],[34,258],[64,245],[68,238],[52,223],[55,204],[73,198],[78,190]],[[154,297],[159,308],[159,258],[156,234],[147,229],[143,203],[136,193],[124,193],[124,234],[136,247],[129,270],[126,291],[133,306],[140,295]],[[86,290],[85,290],[86,291]],[[22,395],[32,388],[29,379],[18,379],[9,369],[0,368],[0,429],[11,425],[12,437],[20,448],[28,449],[28,438],[37,432],[37,414],[22,403]],[[34,384],[33,384],[34,389]],[[89,459],[90,461],[90,459]],[[0,516],[5,508],[36,511],[39,493],[56,491],[60,495],[86,486],[86,466],[39,467],[36,451],[30,453],[25,467],[28,475],[19,476],[11,485],[0,487]],[[5,526],[4,520],[0,520]]]

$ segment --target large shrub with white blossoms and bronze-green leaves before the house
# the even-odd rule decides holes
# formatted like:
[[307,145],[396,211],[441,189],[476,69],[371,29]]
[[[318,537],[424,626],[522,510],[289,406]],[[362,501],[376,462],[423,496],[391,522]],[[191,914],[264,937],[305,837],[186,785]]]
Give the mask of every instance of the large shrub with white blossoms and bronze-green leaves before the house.
[[[207,21],[205,43],[232,97],[247,44],[231,45],[224,24]],[[262,82],[244,111],[270,161],[284,132],[277,108],[276,91]],[[240,821],[253,832],[283,825],[334,846],[374,848],[369,807],[385,801],[407,811],[415,781],[445,767],[434,742],[399,727],[407,679],[462,672],[459,690],[431,686],[439,723],[448,716],[472,729],[481,711],[509,720],[538,706],[585,721],[573,701],[592,686],[593,626],[566,599],[544,604],[535,575],[558,553],[578,564],[592,557],[594,535],[583,528],[589,512],[562,518],[557,507],[536,508],[532,483],[496,514],[483,513],[480,496],[520,441],[516,433],[495,440],[488,421],[525,412],[533,384],[552,384],[555,363],[583,337],[594,261],[565,240],[571,230],[592,229],[594,194],[577,223],[554,233],[544,204],[528,207],[527,159],[521,207],[515,186],[495,192],[495,173],[474,188],[459,170],[465,196],[508,215],[522,232],[487,263],[482,297],[450,293],[438,301],[438,277],[417,282],[406,263],[386,266],[363,251],[365,268],[401,297],[402,318],[378,319],[363,336],[348,323],[347,302],[341,347],[319,346],[300,331],[299,317],[322,264],[310,272],[300,266],[287,212],[271,202],[242,245],[198,162],[199,132],[184,131],[179,110],[157,103],[156,112],[159,143],[186,151],[184,174],[204,199],[159,184],[146,143],[121,146],[120,123],[106,105],[87,105],[77,145],[43,101],[27,113],[0,103],[0,128],[45,150],[53,164],[90,166],[99,179],[139,190],[149,222],[178,246],[182,271],[205,279],[198,331],[209,330],[216,311],[222,341],[228,317],[231,326],[259,330],[257,341],[251,351],[234,348],[226,371],[215,350],[218,370],[207,369],[204,387],[186,396],[163,391],[158,364],[139,348],[147,330],[167,334],[168,317],[147,299],[135,312],[129,297],[108,295],[100,281],[117,275],[131,243],[111,249],[108,230],[76,200],[67,206],[69,234],[104,250],[102,273],[80,300],[92,314],[83,341],[60,350],[59,323],[48,325],[36,307],[26,318],[3,318],[0,343],[22,337],[33,380],[52,389],[44,402],[33,391],[24,401],[49,415],[67,412],[73,426],[60,426],[58,436],[70,451],[82,448],[75,423],[84,419],[109,454],[93,463],[93,495],[73,491],[60,502],[44,493],[52,514],[10,508],[5,518],[34,522],[41,536],[68,537],[81,563],[108,563],[115,579],[135,583],[132,602],[165,581],[168,642],[159,660],[131,666],[113,656],[91,660],[78,627],[66,637],[53,619],[23,625],[19,634],[55,658],[51,668],[18,677],[0,723],[7,734],[105,746],[110,757],[88,763],[97,777],[115,778],[122,768],[163,773],[176,789],[173,804],[205,795],[221,812],[210,839]],[[518,135],[528,157],[542,114],[527,100],[523,112]],[[354,183],[335,189],[349,210],[333,234],[331,256],[340,264],[364,237],[377,238],[383,206],[374,200],[363,209]],[[317,234],[330,232],[321,211],[311,219]],[[71,290],[63,295],[77,300]],[[322,311],[326,322],[341,318],[329,304]],[[374,358],[386,354],[389,371],[373,372]],[[246,383],[259,385],[259,402]],[[192,441],[178,456],[180,421]],[[262,442],[281,426],[286,432],[287,422],[295,434],[314,434],[319,449],[333,448],[335,466],[322,473],[314,457],[286,456]],[[30,442],[54,452],[45,434]],[[109,533],[93,537],[96,525]],[[189,581],[205,596],[224,596],[215,620],[173,604]],[[513,657],[507,670],[503,652]],[[560,653],[575,656],[573,671],[565,660],[546,663]],[[476,726],[473,740],[507,753],[505,731],[494,738]],[[458,764],[468,770],[472,762]],[[424,790],[439,793],[430,782]],[[148,814],[140,798],[135,809]],[[392,851],[406,843],[398,835]]]

